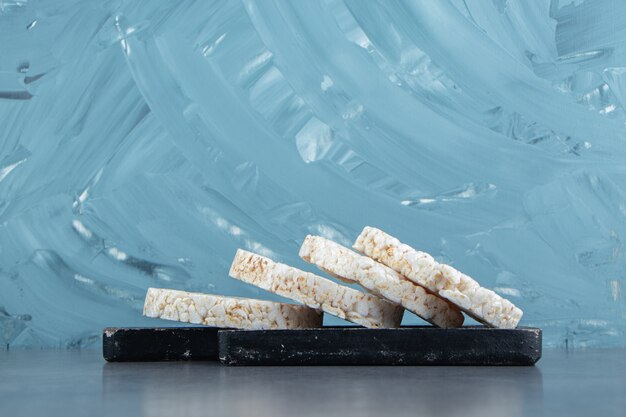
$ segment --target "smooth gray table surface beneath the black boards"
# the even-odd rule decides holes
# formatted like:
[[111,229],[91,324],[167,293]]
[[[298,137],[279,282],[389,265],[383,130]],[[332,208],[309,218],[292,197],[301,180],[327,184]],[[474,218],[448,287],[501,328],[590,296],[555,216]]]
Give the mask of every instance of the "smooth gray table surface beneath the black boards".
[[240,367],[0,352],[0,416],[625,416],[626,349],[535,367]]

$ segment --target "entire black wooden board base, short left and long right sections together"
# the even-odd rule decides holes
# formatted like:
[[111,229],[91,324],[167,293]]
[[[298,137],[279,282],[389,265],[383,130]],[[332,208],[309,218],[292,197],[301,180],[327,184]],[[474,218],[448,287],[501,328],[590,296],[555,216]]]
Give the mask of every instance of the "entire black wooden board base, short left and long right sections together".
[[109,362],[219,358],[226,365],[533,365],[541,357],[541,329],[106,328],[102,347]]

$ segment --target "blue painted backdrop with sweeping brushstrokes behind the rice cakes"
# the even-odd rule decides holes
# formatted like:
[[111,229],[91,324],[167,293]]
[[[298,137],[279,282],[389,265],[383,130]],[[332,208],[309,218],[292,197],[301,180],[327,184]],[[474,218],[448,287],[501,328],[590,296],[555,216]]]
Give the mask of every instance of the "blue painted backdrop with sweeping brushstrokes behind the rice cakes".
[[0,343],[373,225],[624,345],[625,105],[623,1],[0,1]]

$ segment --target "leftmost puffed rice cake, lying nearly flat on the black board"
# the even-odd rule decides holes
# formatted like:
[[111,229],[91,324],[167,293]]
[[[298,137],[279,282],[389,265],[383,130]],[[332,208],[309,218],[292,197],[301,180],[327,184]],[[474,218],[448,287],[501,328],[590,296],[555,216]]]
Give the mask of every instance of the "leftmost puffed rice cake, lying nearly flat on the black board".
[[144,316],[233,329],[298,329],[322,325],[322,312],[309,307],[149,288]]

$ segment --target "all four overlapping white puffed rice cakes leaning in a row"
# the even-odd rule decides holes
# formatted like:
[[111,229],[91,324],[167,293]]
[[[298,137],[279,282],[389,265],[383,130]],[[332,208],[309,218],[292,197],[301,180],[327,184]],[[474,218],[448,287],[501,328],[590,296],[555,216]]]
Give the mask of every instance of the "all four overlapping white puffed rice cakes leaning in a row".
[[307,236],[300,257],[341,285],[239,249],[229,275],[299,305],[150,288],[144,314],[214,327],[248,330],[315,328],[322,312],[371,328],[400,326],[404,309],[442,328],[463,325],[466,313],[489,327],[514,329],[522,310],[432,256],[382,230],[365,227],[353,248]]

